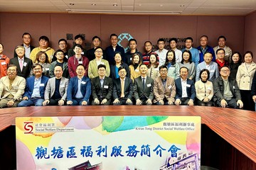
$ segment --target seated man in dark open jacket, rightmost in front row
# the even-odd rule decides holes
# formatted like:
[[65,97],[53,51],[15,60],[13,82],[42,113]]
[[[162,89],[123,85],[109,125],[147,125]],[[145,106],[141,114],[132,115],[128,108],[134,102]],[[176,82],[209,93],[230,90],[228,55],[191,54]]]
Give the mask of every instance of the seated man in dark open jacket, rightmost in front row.
[[227,66],[220,68],[220,77],[213,81],[213,101],[222,108],[242,108],[240,90],[237,82],[228,79],[230,68]]

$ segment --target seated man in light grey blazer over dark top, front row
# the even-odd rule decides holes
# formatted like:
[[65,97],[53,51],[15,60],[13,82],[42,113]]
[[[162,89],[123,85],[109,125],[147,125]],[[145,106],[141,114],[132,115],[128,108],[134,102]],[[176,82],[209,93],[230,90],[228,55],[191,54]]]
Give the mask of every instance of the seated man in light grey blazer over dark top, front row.
[[46,85],[43,106],[63,106],[67,98],[68,79],[62,77],[63,68],[55,66],[55,77],[50,78]]

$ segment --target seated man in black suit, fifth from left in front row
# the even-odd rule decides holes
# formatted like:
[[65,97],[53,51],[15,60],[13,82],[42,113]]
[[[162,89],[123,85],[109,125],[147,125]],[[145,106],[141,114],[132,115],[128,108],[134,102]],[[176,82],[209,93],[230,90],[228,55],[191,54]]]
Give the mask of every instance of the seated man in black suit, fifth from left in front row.
[[106,66],[100,64],[97,67],[98,77],[92,82],[92,105],[110,105],[113,92],[113,81],[110,77],[105,77]]

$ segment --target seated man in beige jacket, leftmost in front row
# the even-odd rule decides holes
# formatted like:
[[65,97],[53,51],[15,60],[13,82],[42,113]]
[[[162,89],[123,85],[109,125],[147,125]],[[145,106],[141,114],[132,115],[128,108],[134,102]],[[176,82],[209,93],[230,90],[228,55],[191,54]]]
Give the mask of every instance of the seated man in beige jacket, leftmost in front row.
[[26,80],[17,76],[17,67],[10,64],[7,76],[0,79],[0,108],[16,107],[21,100]]

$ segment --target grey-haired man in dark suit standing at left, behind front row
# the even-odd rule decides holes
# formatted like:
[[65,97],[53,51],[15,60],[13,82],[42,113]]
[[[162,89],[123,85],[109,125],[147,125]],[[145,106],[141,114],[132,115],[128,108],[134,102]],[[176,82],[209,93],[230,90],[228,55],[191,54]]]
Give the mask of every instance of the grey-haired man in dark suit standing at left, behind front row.
[[10,60],[10,64],[16,65],[17,75],[26,79],[31,73],[33,62],[29,58],[25,57],[25,47],[18,45],[15,48],[15,52],[18,57],[12,58]]

